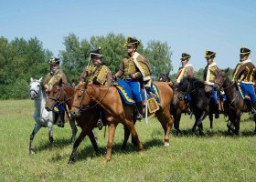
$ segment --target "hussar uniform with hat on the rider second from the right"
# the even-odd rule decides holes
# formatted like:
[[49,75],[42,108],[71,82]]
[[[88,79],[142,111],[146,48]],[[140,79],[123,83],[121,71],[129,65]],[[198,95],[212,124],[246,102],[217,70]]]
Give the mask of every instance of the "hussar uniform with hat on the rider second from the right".
[[[206,51],[205,58],[214,58],[216,57],[216,53],[211,51]],[[216,63],[212,62],[208,66],[205,67],[204,71],[204,82],[206,86],[211,87],[211,99],[213,100],[213,103],[215,106],[219,104],[219,98],[218,98],[218,92],[214,89],[213,85],[215,82],[216,77],[219,73],[219,67],[216,65]]]

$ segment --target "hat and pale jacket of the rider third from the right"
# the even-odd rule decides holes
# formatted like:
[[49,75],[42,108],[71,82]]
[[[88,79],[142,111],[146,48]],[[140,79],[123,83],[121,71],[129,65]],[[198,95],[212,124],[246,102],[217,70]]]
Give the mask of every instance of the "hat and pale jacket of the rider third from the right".
[[[188,55],[187,53],[182,53],[181,60],[187,59],[189,61],[190,57],[191,56]],[[187,63],[187,65],[181,66],[180,68],[178,68],[178,72],[177,72],[177,75],[176,75],[176,83],[177,84],[180,83],[182,78],[184,78],[186,76],[195,77],[193,66],[189,65],[188,63]]]

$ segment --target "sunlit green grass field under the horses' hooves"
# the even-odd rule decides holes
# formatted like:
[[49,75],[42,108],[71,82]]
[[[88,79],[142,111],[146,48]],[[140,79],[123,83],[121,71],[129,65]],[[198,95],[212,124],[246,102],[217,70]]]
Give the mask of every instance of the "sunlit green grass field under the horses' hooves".
[[[80,144],[75,164],[67,165],[72,147],[71,130],[54,126],[54,148],[48,150],[48,129],[42,128],[34,139],[35,155],[28,153],[29,136],[35,125],[34,102],[0,101],[0,181],[256,181],[256,137],[254,122],[244,114],[242,136],[228,136],[224,116],[214,120],[213,133],[206,119],[206,136],[176,136],[173,128],[170,147],[164,147],[160,123],[149,118],[137,122],[136,130],[144,145],[144,155],[129,140],[121,151],[123,126],[116,130],[112,160],[104,164],[107,137],[96,129],[101,156],[93,154],[88,137]],[[182,116],[181,129],[191,130],[189,116]],[[79,129],[80,133],[80,129]],[[108,132],[107,132],[108,134]]]

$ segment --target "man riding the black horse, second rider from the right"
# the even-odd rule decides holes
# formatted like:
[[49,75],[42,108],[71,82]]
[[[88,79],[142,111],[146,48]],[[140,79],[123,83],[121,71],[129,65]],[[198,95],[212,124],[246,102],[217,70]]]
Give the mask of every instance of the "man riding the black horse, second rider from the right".
[[[216,53],[211,51],[206,51],[205,58],[207,59],[208,66],[205,67],[204,71],[204,82],[205,90],[210,94],[210,98],[213,100],[214,106],[219,105],[218,92],[213,88],[214,81],[216,76],[219,74],[219,67],[213,62],[213,59],[216,57]],[[209,89],[208,89],[209,88]],[[219,118],[219,109],[215,114],[215,118]]]

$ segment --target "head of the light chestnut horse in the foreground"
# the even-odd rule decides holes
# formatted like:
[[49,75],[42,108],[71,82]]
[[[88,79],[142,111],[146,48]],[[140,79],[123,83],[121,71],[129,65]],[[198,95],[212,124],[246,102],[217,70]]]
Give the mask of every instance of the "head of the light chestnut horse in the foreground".
[[80,116],[82,107],[88,106],[91,102],[91,96],[88,92],[87,85],[88,83],[84,82],[76,86],[75,93],[74,93],[74,101],[70,110],[71,115],[74,117]]

